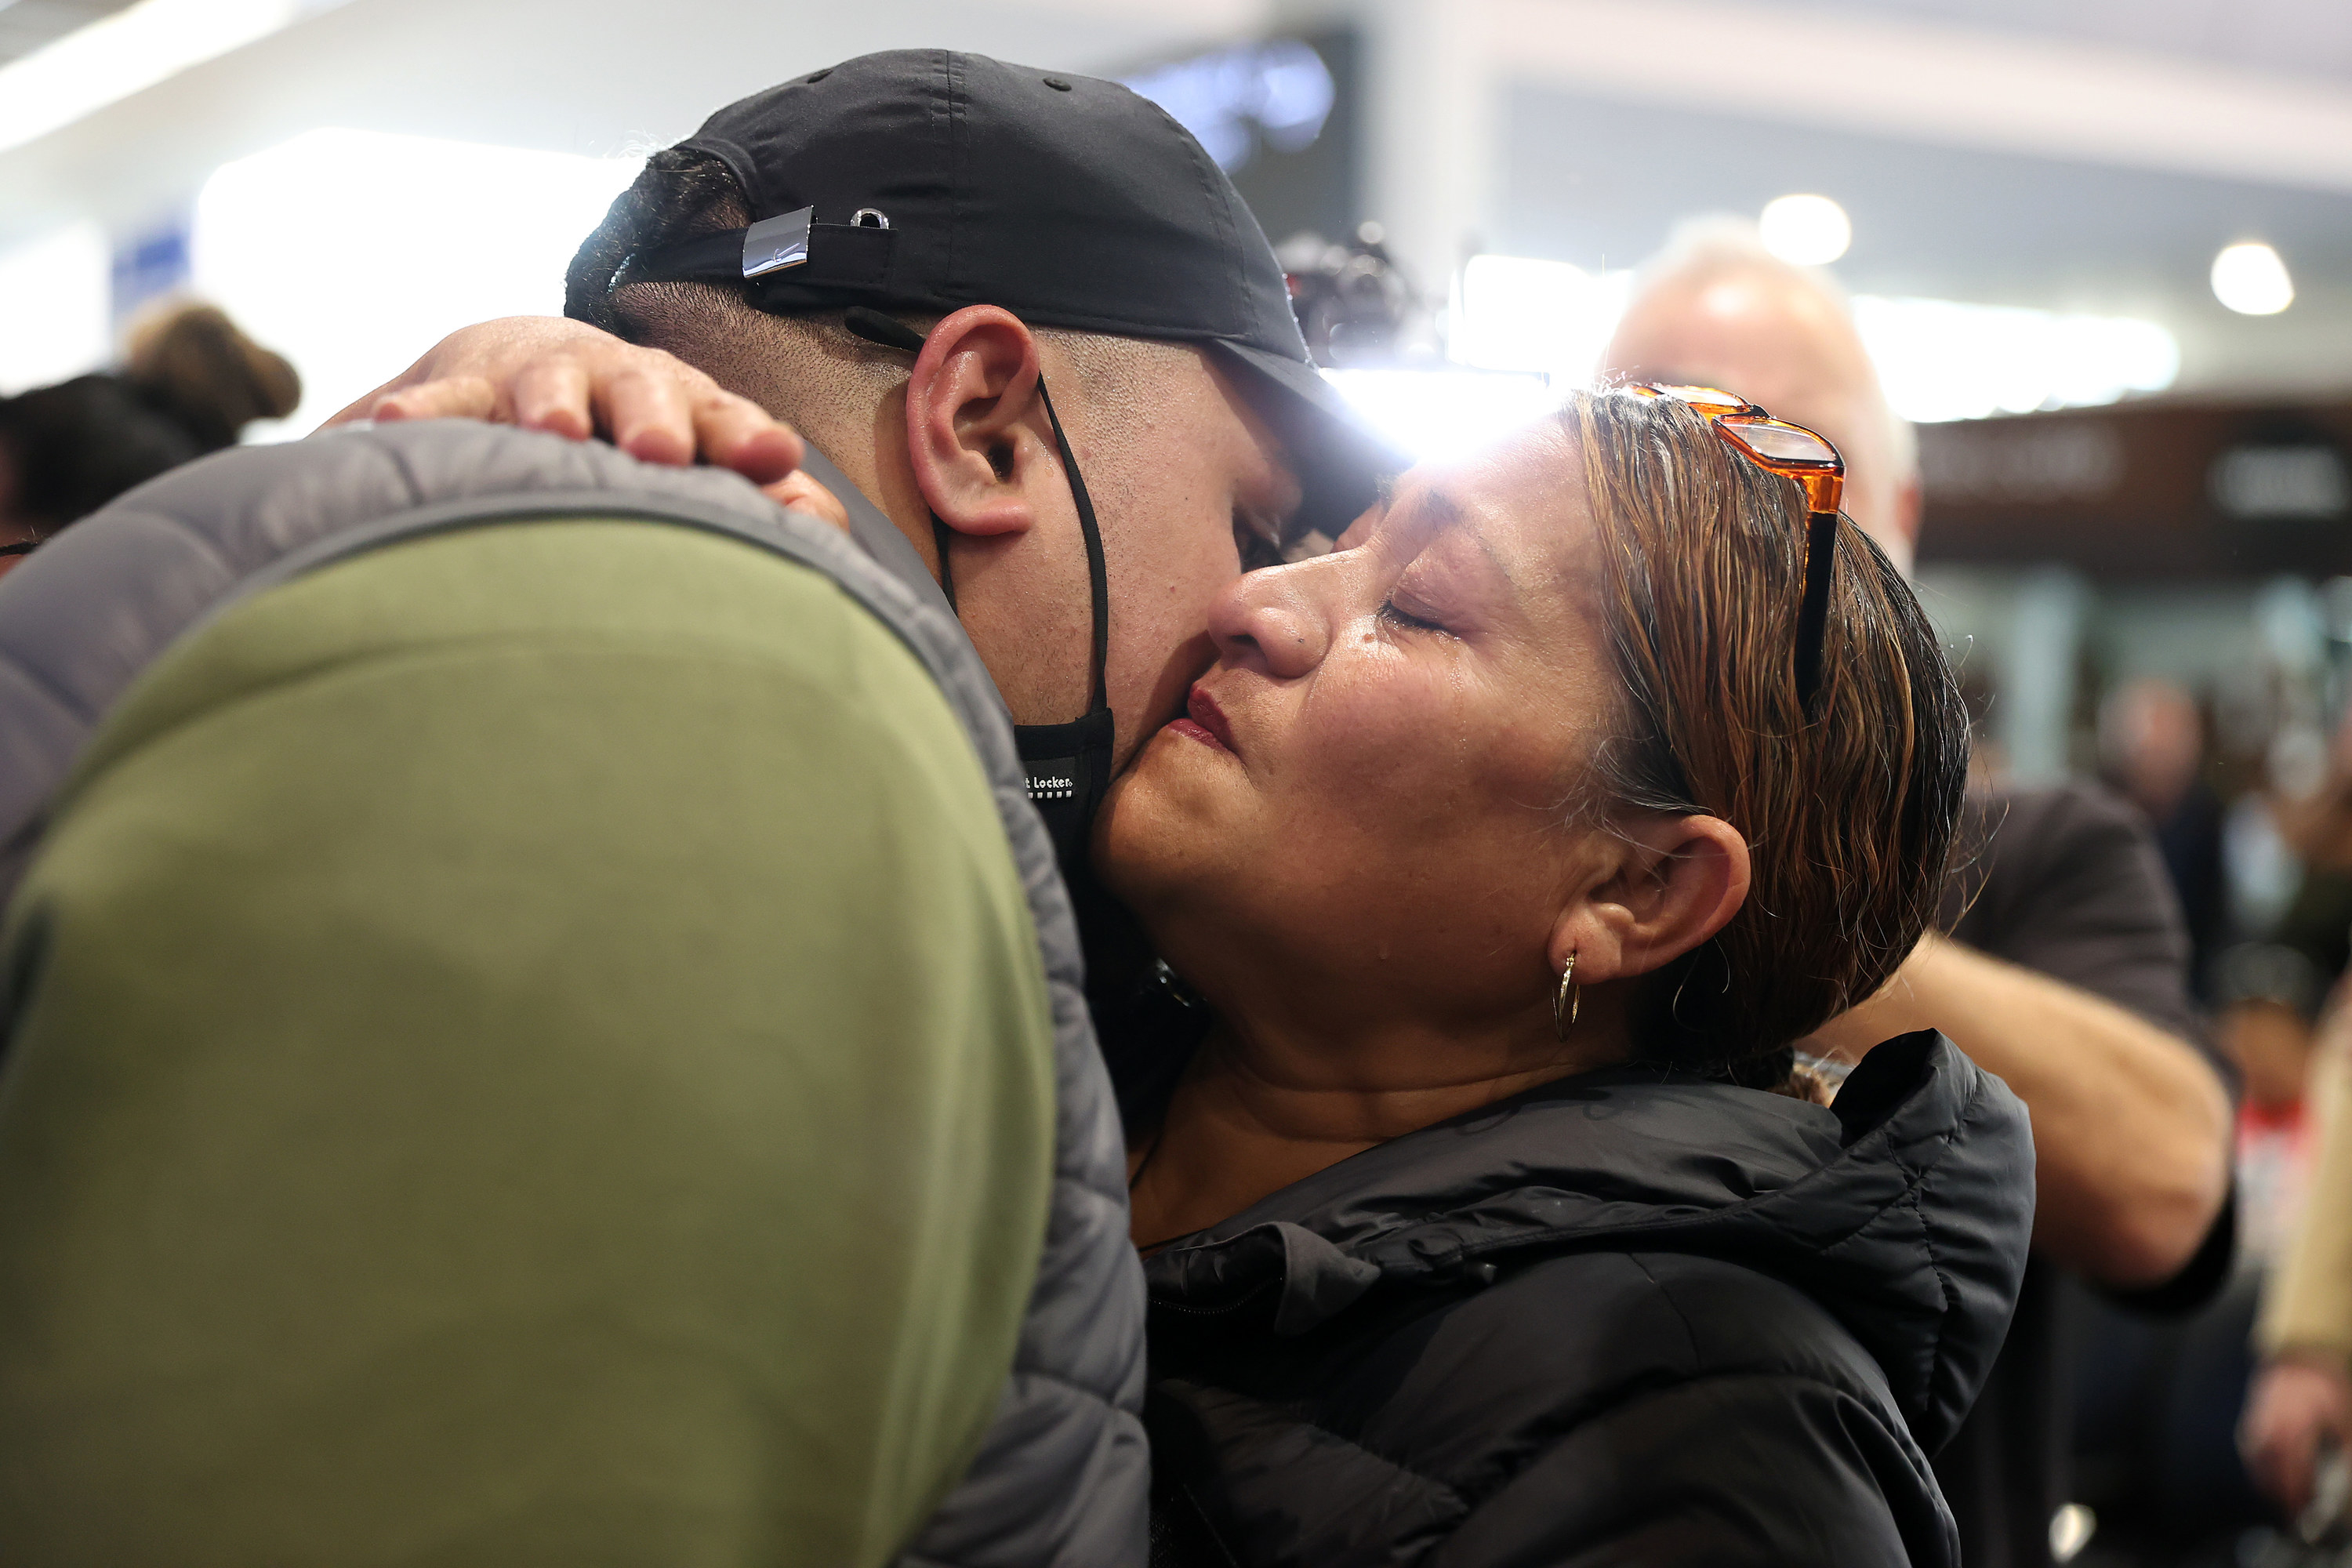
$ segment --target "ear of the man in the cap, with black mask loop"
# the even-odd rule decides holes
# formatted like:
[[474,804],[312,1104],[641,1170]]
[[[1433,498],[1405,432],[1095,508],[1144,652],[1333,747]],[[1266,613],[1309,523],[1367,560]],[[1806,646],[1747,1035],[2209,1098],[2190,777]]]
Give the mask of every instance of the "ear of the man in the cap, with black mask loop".
[[1051,461],[1037,397],[1037,336],[1000,306],[931,327],[906,383],[906,451],[931,515],[957,534],[1035,527],[1028,484]]

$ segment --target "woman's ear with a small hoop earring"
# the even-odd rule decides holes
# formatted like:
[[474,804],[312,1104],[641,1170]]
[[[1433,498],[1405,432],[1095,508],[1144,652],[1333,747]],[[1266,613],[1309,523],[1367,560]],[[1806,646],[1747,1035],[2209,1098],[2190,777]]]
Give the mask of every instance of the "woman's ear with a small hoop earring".
[[1592,837],[1602,853],[1552,924],[1557,973],[1576,980],[1646,976],[1724,929],[1748,900],[1748,839],[1719,816],[1642,816]]

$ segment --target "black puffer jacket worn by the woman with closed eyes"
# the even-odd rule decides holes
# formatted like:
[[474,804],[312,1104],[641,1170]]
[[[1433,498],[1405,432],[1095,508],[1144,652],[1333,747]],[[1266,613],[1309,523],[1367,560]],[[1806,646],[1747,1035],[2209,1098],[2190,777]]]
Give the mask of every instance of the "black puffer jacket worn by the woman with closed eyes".
[[2030,1225],[1938,1034],[1835,1112],[1621,1067],[1397,1138],[1145,1265],[1155,1561],[1957,1563]]

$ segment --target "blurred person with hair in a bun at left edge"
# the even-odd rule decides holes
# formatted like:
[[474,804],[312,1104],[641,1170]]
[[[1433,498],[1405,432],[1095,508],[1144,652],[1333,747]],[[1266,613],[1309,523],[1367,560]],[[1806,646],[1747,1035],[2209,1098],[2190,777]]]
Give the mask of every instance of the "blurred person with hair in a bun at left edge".
[[285,355],[200,303],[134,324],[120,371],[0,397],[0,571],[134,484],[235,444],[299,402]]

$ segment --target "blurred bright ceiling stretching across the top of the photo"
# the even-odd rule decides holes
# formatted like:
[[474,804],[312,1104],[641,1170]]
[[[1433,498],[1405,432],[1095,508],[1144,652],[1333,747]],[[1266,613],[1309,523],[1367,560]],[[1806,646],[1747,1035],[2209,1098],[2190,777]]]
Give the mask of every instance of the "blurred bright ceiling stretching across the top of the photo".
[[[0,0],[0,59],[113,0]],[[0,247],[118,237],[322,125],[616,155],[866,49],[1122,73],[1268,31],[1369,40],[1367,207],[1432,282],[1465,247],[1625,266],[1675,219],[1818,190],[1858,292],[2150,315],[2183,388],[2352,386],[2352,0],[343,0],[0,150]],[[2298,299],[2225,313],[2216,249]],[[400,235],[355,235],[397,247]]]

